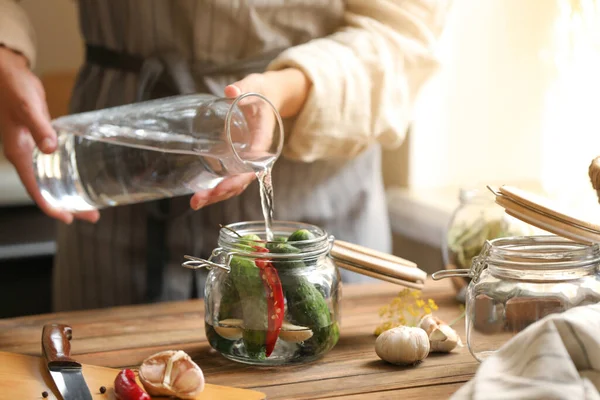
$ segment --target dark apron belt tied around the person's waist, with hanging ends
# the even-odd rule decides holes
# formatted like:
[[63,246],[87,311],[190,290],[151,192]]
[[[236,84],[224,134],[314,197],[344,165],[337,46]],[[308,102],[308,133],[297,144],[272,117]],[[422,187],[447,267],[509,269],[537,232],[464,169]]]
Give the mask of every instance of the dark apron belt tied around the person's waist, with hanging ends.
[[[135,101],[160,97],[185,95],[197,92],[219,95],[221,88],[212,76],[246,76],[264,72],[268,64],[283,50],[274,49],[258,57],[234,61],[227,65],[193,63],[181,54],[166,50],[149,57],[118,52],[106,47],[86,44],[86,62],[102,68],[116,69],[138,75]],[[201,86],[197,87],[196,78]],[[146,224],[146,301],[159,301],[163,288],[164,266],[169,260],[166,246],[167,218],[170,201],[163,199],[145,204]],[[196,279],[192,279],[192,293],[198,291]]]

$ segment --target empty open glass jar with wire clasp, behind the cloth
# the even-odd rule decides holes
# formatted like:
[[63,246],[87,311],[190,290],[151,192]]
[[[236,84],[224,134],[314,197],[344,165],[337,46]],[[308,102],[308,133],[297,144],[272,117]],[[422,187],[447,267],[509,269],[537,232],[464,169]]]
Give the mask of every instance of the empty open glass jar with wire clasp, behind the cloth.
[[600,247],[554,236],[487,241],[469,270],[433,279],[469,277],[467,345],[479,361],[530,324],[552,313],[600,301]]

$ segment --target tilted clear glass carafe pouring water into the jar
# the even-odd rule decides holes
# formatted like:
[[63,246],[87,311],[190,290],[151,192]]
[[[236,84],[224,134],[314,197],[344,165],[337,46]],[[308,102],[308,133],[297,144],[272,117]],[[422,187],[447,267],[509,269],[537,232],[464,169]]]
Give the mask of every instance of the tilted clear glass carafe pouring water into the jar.
[[272,165],[283,124],[264,96],[173,96],[52,121],[58,149],[34,151],[39,189],[80,212],[212,189]]

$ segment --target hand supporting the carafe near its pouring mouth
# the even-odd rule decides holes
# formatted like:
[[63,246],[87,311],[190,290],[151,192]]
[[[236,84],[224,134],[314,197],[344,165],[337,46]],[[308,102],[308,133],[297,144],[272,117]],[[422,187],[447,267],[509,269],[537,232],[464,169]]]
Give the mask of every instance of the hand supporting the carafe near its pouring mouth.
[[[304,73],[300,70],[289,68],[281,71],[248,75],[244,79],[227,86],[225,88],[225,96],[236,98],[248,92],[260,93],[273,103],[277,110],[279,110],[282,118],[290,118],[300,112],[309,90],[310,81]],[[243,99],[240,101],[240,108],[243,109],[246,106],[252,106],[252,104],[244,103],[246,100],[248,102],[256,101],[253,98]],[[254,134],[251,148],[259,152],[270,147],[273,128],[277,123],[270,110],[269,107],[269,112],[266,113],[268,114],[268,120],[261,118],[257,122],[260,129],[256,126],[254,129],[251,129]],[[264,117],[264,113],[262,115]],[[238,196],[255,178],[254,173],[228,177],[214,189],[194,194],[190,200],[190,205],[194,210],[198,210],[204,206]]]

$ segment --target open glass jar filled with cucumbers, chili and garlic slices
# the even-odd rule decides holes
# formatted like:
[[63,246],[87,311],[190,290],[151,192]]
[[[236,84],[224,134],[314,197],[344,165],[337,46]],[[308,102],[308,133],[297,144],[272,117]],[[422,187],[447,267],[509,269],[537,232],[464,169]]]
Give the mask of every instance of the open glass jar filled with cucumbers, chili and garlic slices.
[[[301,229],[314,239],[283,243]],[[341,279],[329,257],[333,237],[297,222],[274,221],[272,231],[275,240],[258,246],[269,250],[263,252],[244,237],[258,235],[264,241],[264,222],[231,224],[221,229],[209,260],[190,261],[210,269],[204,289],[206,337],[224,357],[241,363],[309,362],[339,338]],[[277,332],[279,313],[283,322]]]

